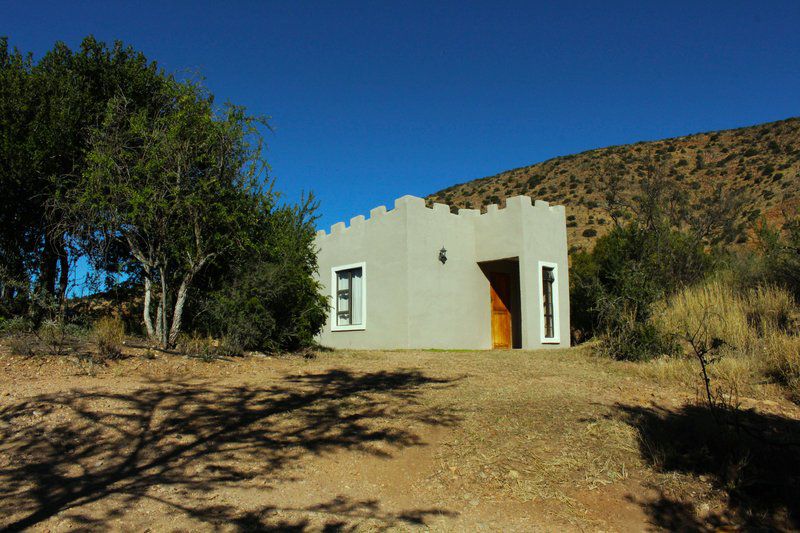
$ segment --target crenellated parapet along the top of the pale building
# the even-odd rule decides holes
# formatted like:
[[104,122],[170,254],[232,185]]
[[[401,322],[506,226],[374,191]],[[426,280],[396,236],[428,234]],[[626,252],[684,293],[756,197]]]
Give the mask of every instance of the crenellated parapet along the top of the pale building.
[[475,220],[484,220],[485,218],[491,219],[496,216],[508,216],[523,210],[532,210],[533,213],[560,213],[563,215],[564,206],[551,206],[544,200],[536,200],[533,202],[529,196],[512,196],[506,199],[504,208],[500,208],[497,204],[489,204],[486,206],[486,212],[484,213],[481,213],[480,209],[458,209],[458,213],[453,213],[450,206],[447,204],[435,203],[432,207],[428,207],[425,205],[425,200],[423,198],[405,195],[394,201],[393,209],[387,210],[386,206],[380,205],[370,210],[369,218],[365,218],[364,215],[358,215],[351,218],[349,224],[337,222],[331,226],[329,232],[325,230],[317,231],[317,239],[319,240],[331,235],[345,234],[353,229],[366,229],[370,224],[376,221],[400,213],[406,213],[408,216],[413,217],[457,218],[463,219],[465,223],[470,223],[469,221],[474,222]]

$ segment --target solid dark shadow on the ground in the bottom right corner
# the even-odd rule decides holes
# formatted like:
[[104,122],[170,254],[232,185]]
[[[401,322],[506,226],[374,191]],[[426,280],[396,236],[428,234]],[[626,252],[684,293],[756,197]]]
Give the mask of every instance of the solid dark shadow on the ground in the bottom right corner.
[[[800,421],[736,411],[735,424],[718,422],[702,404],[681,409],[618,405],[639,432],[644,460],[661,472],[703,476],[727,496],[723,513],[698,513],[691,502],[663,491],[639,501],[654,526],[716,531],[800,528]],[[719,415],[717,415],[719,416]],[[730,422],[731,420],[728,419]]]

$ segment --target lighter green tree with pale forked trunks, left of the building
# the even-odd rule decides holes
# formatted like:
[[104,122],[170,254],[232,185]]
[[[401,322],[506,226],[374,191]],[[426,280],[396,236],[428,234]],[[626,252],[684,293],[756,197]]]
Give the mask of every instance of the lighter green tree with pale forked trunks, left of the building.
[[154,100],[108,102],[87,170],[59,207],[85,241],[125,244],[143,272],[147,334],[167,347],[194,278],[252,242],[274,196],[258,182],[262,121],[235,106],[217,113],[212,96],[189,82],[170,80]]

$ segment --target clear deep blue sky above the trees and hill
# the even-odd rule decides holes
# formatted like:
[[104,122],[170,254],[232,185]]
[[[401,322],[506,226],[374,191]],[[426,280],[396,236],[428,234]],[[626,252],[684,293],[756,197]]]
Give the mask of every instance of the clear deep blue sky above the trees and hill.
[[800,115],[800,0],[0,1],[0,35],[121,39],[272,116],[321,227],[611,144]]

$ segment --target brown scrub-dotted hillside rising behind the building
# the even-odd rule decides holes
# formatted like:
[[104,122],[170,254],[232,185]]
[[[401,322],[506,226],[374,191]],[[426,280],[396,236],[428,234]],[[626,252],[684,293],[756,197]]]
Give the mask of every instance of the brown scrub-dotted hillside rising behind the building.
[[[426,200],[484,209],[525,194],[563,204],[570,246],[588,247],[610,228],[602,207],[604,169],[617,168],[626,179],[638,180],[654,160],[676,187],[688,191],[693,208],[702,209],[710,191],[721,185],[739,190],[745,200],[743,227],[762,215],[779,220],[800,199],[800,118],[556,157],[453,185]],[[738,242],[747,238],[744,233]]]

